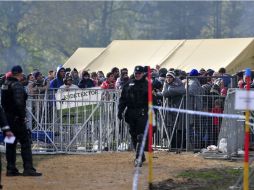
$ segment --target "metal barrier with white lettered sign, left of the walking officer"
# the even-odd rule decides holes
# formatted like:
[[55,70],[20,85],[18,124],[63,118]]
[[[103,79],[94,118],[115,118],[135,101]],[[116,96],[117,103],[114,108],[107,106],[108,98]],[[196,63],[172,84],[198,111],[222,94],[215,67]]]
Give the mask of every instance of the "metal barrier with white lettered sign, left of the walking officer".
[[116,119],[118,98],[119,91],[100,89],[30,96],[27,118],[33,151],[94,152],[129,145],[127,128]]

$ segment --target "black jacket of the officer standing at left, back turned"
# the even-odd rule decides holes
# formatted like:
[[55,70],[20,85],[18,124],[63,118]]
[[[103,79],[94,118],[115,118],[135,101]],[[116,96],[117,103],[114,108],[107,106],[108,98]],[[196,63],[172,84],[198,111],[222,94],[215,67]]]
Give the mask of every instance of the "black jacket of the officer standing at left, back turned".
[[27,93],[24,86],[16,78],[8,78],[2,85],[1,93],[1,104],[8,122],[13,122],[15,118],[26,117],[26,100]]

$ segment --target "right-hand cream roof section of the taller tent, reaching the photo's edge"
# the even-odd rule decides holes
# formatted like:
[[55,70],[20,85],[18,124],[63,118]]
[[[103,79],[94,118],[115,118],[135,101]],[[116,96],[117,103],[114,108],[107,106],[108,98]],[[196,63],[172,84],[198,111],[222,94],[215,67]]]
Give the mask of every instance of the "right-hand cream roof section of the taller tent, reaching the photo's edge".
[[[249,62],[254,56],[253,50],[253,38],[185,40],[161,67],[173,67],[187,72],[193,68],[211,68],[218,71],[219,68],[225,67],[227,72],[234,73],[251,66],[251,63],[252,68],[254,67],[254,61]],[[246,57],[247,55],[249,57]]]

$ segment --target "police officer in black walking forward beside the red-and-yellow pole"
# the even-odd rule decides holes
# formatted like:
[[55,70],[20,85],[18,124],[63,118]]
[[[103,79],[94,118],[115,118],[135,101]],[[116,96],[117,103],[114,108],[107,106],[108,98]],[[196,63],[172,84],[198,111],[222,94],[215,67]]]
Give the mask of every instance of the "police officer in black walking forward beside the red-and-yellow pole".
[[[124,86],[118,105],[118,118],[122,120],[125,113],[125,121],[129,124],[129,132],[132,143],[136,150],[135,167],[141,167],[138,162],[138,154],[144,135],[144,130],[148,120],[148,82],[144,76],[144,68],[136,66],[134,69],[134,79],[128,81]],[[142,162],[145,155],[142,155]]]

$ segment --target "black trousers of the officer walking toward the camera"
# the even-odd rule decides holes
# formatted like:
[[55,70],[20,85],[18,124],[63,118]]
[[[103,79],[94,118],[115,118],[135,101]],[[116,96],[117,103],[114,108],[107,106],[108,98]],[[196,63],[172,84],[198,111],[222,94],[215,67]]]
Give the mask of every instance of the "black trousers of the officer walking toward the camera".
[[[148,121],[148,113],[146,109],[127,109],[125,121],[129,124],[129,132],[131,135],[132,144],[136,150],[136,158],[138,158],[141,148],[142,139],[145,132],[145,127]],[[147,150],[147,141],[145,145]],[[144,156],[144,154],[143,154]]]

